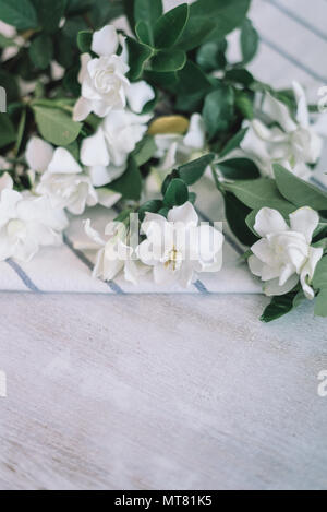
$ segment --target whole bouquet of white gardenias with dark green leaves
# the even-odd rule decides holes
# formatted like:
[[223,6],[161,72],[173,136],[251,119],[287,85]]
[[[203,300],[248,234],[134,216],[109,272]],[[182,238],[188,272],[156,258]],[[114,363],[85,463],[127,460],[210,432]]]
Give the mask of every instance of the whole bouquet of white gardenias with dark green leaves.
[[[81,216],[96,277],[186,287],[222,266],[220,226],[196,210],[207,180],[271,297],[263,321],[304,299],[327,317],[327,194],[312,180],[325,119],[299,83],[276,91],[246,69],[250,5],[0,0],[1,261],[59,245]],[[105,233],[97,205],[117,212]]]

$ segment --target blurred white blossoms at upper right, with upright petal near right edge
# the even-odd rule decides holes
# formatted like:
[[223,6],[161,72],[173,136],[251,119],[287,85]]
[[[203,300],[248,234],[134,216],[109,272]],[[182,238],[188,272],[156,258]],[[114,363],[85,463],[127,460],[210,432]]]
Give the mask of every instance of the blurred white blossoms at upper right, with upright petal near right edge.
[[241,144],[242,151],[258,166],[263,176],[274,177],[274,164],[283,165],[302,179],[311,175],[310,165],[318,162],[326,135],[320,122],[311,123],[307,100],[302,86],[293,83],[298,103],[296,119],[286,104],[271,94],[264,96],[259,110],[267,122],[254,119]]

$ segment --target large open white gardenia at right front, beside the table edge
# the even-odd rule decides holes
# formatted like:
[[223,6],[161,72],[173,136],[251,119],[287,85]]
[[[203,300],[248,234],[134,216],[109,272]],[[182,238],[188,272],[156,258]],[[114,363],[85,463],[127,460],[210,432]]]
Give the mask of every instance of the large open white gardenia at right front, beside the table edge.
[[265,282],[267,296],[288,294],[300,281],[305,296],[314,298],[311,282],[324,254],[323,249],[312,247],[318,224],[319,215],[310,207],[292,213],[290,226],[276,210],[259,211],[254,229],[262,240],[252,247],[249,264],[252,273]]

